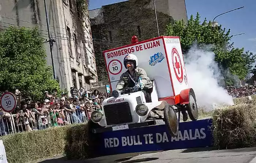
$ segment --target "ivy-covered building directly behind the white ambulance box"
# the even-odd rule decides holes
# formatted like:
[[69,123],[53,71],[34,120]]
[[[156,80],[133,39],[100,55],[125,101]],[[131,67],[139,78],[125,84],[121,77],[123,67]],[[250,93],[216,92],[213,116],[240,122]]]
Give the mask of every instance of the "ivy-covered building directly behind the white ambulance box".
[[[184,19],[184,0],[155,0],[160,35],[173,20]],[[158,36],[153,0],[129,0],[89,11],[99,81],[108,80],[102,51]]]

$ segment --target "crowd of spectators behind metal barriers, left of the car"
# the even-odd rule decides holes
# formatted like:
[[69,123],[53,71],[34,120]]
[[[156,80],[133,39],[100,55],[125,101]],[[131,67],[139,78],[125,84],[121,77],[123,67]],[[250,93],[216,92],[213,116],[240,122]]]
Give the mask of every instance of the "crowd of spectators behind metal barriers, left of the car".
[[0,136],[87,122],[92,111],[102,110],[106,94],[94,90],[88,96],[80,90],[71,88],[69,97],[65,93],[57,97],[55,92],[50,94],[45,91],[41,102],[29,98],[21,100],[21,93],[16,90],[15,110],[7,113],[0,109]]

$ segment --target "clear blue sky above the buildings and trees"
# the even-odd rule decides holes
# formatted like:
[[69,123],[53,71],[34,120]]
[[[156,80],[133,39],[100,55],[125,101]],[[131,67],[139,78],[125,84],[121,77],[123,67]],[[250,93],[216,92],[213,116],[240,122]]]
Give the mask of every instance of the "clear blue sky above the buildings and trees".
[[[125,0],[90,0],[89,9],[100,8],[102,5],[118,3]],[[256,0],[185,0],[188,18],[196,16],[199,12],[202,21],[206,17],[211,20],[226,11],[242,7],[244,8],[226,13],[215,19],[222,27],[231,29],[230,35],[245,33],[234,36],[231,41],[235,47],[244,47],[245,50],[256,53]]]

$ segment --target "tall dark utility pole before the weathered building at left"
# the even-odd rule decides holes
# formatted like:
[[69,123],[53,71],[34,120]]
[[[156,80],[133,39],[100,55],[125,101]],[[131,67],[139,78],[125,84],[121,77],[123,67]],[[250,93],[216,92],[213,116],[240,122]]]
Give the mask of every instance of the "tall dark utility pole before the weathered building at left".
[[44,4],[45,4],[45,15],[46,15],[46,23],[47,23],[47,30],[48,30],[48,37],[49,40],[46,41],[47,43],[49,42],[50,45],[50,52],[51,52],[51,58],[52,58],[52,70],[53,70],[53,78],[57,79],[56,76],[56,71],[55,71],[55,63],[54,63],[54,58],[53,58],[53,43],[55,43],[56,41],[54,39],[51,38],[50,36],[50,28],[49,28],[49,18],[48,18],[48,11],[47,11],[47,6],[46,6],[46,2],[44,0]]

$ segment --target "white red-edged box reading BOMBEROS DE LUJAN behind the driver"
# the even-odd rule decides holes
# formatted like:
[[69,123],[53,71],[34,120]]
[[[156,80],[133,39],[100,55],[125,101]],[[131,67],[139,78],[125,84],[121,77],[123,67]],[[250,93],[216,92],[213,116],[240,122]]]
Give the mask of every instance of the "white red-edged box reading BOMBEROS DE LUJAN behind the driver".
[[109,81],[115,81],[110,84],[111,90],[127,71],[123,61],[129,53],[138,57],[138,67],[155,80],[159,99],[177,96],[189,88],[179,37],[161,36],[103,51]]

